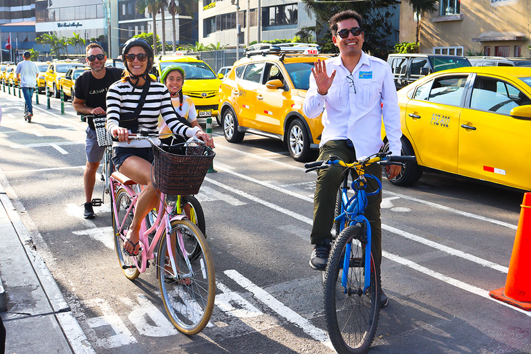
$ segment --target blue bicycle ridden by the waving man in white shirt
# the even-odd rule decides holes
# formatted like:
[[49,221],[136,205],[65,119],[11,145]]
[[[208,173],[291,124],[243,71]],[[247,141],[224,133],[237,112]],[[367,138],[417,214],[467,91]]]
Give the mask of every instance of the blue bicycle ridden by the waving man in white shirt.
[[[345,163],[337,156],[326,161],[310,162],[306,172],[315,169],[344,168],[342,185],[335,207],[335,231],[328,264],[324,272],[324,307],[328,335],[337,353],[360,354],[369,351],[380,316],[380,265],[375,264],[371,250],[371,225],[364,216],[367,196],[380,193],[382,183],[365,174],[366,166],[401,165],[414,161],[415,156],[374,156],[354,163]],[[348,197],[348,172],[354,171]],[[367,179],[378,182],[378,189],[366,192]],[[365,270],[369,270],[366,272]]]

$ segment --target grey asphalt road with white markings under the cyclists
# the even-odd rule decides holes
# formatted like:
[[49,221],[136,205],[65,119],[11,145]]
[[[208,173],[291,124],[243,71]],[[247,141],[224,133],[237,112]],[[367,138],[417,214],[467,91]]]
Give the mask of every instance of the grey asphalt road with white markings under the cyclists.
[[[214,124],[218,172],[197,198],[218,291],[209,326],[188,337],[167,320],[153,268],[123,276],[109,198],[82,217],[86,123],[40,100],[28,124],[24,100],[0,91],[0,180],[97,353],[334,353],[308,265],[315,173],[281,142],[230,144]],[[523,194],[424,174],[384,181],[383,197],[389,306],[371,353],[531,353],[531,313],[488,296],[505,285]]]

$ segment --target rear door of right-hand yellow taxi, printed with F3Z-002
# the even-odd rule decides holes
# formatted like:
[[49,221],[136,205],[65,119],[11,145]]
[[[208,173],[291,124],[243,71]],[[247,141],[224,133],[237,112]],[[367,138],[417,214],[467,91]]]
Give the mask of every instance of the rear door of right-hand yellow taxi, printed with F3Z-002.
[[406,128],[420,165],[457,172],[458,127],[467,76],[420,85],[406,106]]

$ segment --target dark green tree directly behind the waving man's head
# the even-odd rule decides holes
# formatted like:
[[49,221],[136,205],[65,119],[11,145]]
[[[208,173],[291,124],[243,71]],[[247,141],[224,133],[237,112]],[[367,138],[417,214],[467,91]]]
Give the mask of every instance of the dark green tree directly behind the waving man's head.
[[389,37],[397,30],[391,24],[393,13],[390,6],[396,6],[396,0],[371,1],[335,1],[335,0],[302,0],[308,15],[313,15],[315,26],[301,28],[297,36],[307,38],[315,35],[317,44],[323,52],[337,53],[337,47],[332,41],[332,34],[328,28],[330,17],[343,10],[355,10],[363,17],[365,42],[363,48],[377,57],[386,57],[392,50]]

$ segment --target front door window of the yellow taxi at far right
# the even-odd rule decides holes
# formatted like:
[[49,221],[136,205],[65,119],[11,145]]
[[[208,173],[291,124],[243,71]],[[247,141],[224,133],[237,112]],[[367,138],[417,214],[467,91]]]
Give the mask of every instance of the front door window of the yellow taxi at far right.
[[511,109],[531,100],[518,88],[490,77],[477,77],[472,89],[470,108],[509,114]]

